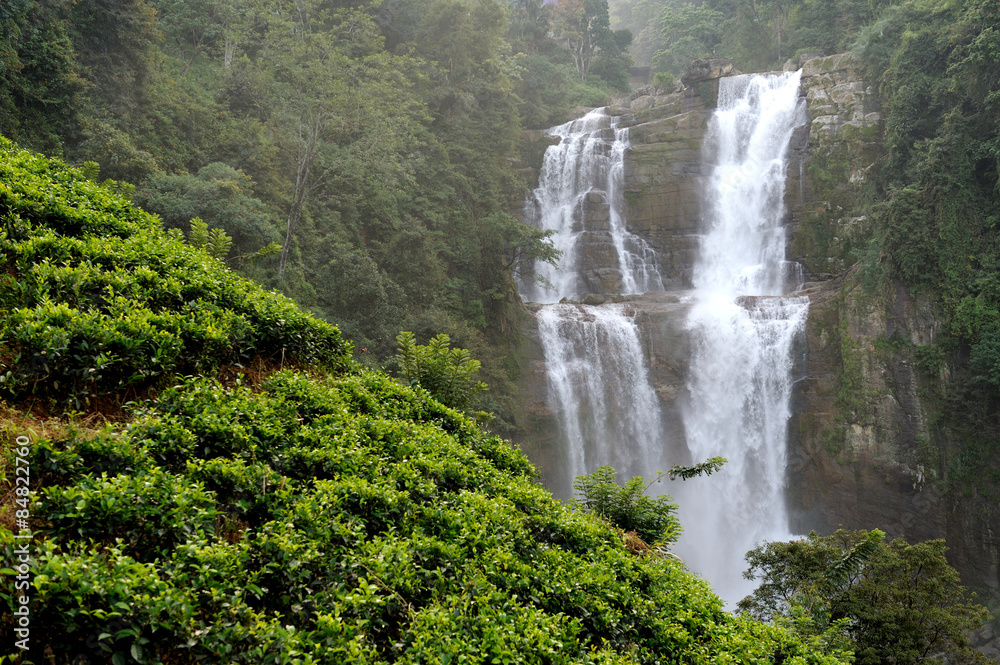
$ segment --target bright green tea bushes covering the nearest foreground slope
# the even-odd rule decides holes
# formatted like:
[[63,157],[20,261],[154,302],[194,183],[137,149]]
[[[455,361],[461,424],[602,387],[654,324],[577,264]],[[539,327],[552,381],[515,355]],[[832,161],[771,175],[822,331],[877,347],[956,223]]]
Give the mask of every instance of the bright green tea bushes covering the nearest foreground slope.
[[95,642],[149,663],[838,662],[378,373],[184,379],[127,428],[34,450],[59,484],[33,509],[33,645],[66,662]]

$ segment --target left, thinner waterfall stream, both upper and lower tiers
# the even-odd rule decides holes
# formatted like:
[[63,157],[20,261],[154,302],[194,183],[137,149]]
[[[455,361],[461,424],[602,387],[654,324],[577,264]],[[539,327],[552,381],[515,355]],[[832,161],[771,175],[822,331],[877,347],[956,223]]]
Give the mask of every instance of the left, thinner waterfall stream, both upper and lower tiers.
[[520,283],[526,299],[549,303],[536,317],[561,440],[556,477],[546,480],[562,496],[572,495],[576,476],[605,464],[621,477],[644,473],[661,448],[659,402],[632,317],[621,305],[554,304],[663,289],[655,252],[625,226],[629,131],[619,120],[597,109],[548,130],[559,143],[546,150],[526,202],[529,221],[553,231],[562,252],[558,268],[537,264]]

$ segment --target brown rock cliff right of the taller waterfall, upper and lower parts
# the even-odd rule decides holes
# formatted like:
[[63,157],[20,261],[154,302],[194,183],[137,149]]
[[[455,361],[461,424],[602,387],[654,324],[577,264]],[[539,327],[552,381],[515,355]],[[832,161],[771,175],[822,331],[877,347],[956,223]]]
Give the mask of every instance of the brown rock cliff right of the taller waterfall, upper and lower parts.
[[875,97],[850,56],[802,69],[811,123],[786,203],[789,255],[814,281],[805,289],[808,355],[790,423],[793,529],[946,538],[963,580],[995,590],[997,491],[953,477],[962,442],[942,426],[944,410],[958,405],[946,399],[952,370],[937,346],[934,300],[901,285],[866,289],[854,265],[867,230],[866,179],[881,145]]

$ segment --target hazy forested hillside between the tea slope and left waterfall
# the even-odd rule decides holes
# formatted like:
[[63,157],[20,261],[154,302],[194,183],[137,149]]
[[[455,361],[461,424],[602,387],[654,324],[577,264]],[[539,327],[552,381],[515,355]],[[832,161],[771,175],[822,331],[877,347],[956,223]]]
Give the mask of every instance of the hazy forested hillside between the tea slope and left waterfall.
[[605,0],[3,5],[0,134],[99,164],[168,228],[222,229],[233,267],[369,364],[400,330],[449,334],[509,423],[513,270],[553,256],[508,214],[520,135],[627,89]]

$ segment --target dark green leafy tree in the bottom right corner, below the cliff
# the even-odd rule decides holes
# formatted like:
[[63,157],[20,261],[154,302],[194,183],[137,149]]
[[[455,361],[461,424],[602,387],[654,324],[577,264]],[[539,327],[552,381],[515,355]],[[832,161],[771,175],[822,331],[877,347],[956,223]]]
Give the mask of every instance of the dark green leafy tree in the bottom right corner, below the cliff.
[[[800,632],[842,633],[858,665],[988,662],[969,648],[967,631],[989,618],[945,560],[944,541],[886,543],[879,531],[838,531],[747,554],[748,579],[761,585],[744,600],[754,618],[782,618]],[[792,622],[792,619],[798,619]]]

